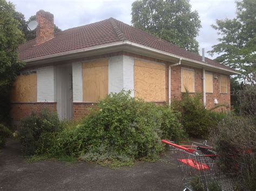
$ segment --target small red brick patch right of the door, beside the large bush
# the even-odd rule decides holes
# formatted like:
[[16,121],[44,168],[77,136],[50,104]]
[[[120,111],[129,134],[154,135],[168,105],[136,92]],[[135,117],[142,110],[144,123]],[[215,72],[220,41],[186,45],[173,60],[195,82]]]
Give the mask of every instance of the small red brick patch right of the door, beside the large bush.
[[89,114],[90,109],[97,103],[73,102],[73,119],[79,119]]

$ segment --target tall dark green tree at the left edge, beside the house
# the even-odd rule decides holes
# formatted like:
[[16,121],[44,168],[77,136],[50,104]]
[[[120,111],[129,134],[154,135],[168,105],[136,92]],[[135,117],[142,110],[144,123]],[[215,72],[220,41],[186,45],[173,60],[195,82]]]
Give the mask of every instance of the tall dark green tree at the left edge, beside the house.
[[18,45],[25,41],[19,25],[14,5],[0,0],[0,123],[8,118],[11,84],[24,66],[17,53]]

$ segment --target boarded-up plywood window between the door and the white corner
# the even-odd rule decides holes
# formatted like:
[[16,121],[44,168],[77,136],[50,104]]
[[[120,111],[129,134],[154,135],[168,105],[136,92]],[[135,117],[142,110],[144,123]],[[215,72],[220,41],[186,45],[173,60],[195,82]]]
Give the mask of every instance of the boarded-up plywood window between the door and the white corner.
[[83,101],[97,102],[107,95],[108,60],[83,63]]

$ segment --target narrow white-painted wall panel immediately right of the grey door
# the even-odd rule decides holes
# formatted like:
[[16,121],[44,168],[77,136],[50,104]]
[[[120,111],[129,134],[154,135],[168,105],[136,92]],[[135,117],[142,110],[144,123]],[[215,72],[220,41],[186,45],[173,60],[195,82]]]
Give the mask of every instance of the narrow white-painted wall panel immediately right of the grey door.
[[82,63],[72,63],[73,102],[83,102]]

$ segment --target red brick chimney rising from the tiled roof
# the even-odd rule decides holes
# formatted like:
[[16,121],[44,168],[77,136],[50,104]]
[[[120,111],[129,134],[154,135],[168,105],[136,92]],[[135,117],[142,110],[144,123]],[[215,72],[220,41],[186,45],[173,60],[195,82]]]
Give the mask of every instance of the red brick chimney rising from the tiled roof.
[[36,13],[38,23],[36,29],[36,44],[44,43],[54,37],[54,17],[52,13],[39,10]]

